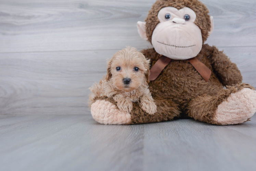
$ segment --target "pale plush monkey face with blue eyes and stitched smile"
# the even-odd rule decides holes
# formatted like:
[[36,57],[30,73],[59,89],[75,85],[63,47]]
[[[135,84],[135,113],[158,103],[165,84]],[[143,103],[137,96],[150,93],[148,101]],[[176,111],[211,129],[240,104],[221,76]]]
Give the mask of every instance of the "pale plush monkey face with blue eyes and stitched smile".
[[156,52],[174,60],[195,57],[202,49],[202,33],[194,24],[196,14],[190,8],[166,7],[157,15],[160,23],[152,35]]

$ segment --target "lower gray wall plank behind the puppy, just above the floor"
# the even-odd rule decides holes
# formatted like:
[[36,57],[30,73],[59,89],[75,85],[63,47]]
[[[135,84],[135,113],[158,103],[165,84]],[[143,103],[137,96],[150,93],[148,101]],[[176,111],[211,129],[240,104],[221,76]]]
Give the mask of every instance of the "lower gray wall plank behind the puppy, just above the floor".
[[[256,85],[256,49],[220,48]],[[85,114],[89,87],[118,50],[0,53],[0,114]]]

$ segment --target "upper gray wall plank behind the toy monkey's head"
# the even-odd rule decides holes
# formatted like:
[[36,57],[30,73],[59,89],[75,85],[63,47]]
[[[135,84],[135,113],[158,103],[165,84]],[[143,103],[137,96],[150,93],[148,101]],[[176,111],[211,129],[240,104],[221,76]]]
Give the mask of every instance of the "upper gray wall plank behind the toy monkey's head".
[[[138,33],[155,0],[0,0],[0,52],[151,47]],[[218,47],[256,46],[255,0],[203,0],[215,19],[207,41]]]

